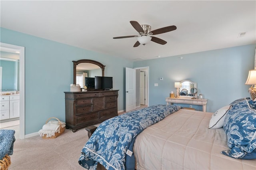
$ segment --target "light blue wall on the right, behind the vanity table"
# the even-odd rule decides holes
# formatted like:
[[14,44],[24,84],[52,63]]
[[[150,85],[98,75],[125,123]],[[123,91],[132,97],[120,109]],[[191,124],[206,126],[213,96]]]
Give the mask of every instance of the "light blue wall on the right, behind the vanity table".
[[255,47],[252,44],[136,61],[134,67],[149,66],[149,105],[164,104],[165,97],[176,92],[174,82],[189,79],[198,83],[198,94],[208,99],[207,111],[215,112],[235,99],[250,97],[250,85],[244,83],[248,71],[254,69]]

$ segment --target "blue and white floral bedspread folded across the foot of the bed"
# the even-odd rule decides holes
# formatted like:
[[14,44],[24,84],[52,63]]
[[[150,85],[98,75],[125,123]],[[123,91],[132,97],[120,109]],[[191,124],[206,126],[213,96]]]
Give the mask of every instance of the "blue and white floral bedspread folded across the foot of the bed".
[[155,105],[104,121],[86,142],[78,163],[89,170],[96,170],[98,162],[106,169],[134,169],[132,152],[136,136],[180,108]]

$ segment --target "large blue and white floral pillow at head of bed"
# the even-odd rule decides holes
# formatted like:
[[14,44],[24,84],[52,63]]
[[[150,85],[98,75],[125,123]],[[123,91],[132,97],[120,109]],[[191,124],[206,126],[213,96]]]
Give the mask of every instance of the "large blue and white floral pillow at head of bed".
[[237,159],[256,159],[256,102],[243,100],[226,113],[224,130],[230,150],[222,154]]

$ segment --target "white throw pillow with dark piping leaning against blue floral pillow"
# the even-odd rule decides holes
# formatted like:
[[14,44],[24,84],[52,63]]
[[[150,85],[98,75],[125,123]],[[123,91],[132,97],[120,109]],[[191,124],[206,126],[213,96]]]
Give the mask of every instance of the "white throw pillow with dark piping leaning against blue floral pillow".
[[227,111],[230,109],[231,105],[224,106],[216,111],[210,120],[209,128],[221,128],[224,125],[224,119]]

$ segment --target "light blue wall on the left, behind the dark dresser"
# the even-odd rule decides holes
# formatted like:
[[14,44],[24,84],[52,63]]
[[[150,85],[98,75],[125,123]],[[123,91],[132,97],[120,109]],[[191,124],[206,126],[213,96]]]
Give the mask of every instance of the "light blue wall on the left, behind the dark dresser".
[[49,117],[65,121],[64,91],[73,83],[73,60],[92,59],[106,65],[118,92],[118,111],[124,110],[124,67],[132,62],[58,42],[0,30],[1,42],[25,47],[25,134],[37,132]]

